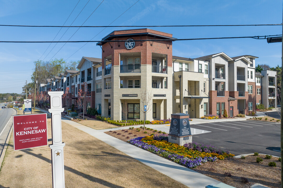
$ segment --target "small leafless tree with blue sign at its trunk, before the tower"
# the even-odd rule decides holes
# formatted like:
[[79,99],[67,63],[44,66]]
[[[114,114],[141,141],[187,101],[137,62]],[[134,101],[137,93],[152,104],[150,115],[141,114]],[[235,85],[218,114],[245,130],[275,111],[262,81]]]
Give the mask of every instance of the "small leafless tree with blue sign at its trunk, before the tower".
[[140,111],[143,112],[143,130],[145,130],[145,114],[148,110],[152,107],[152,98],[153,95],[151,94],[150,90],[140,90]]

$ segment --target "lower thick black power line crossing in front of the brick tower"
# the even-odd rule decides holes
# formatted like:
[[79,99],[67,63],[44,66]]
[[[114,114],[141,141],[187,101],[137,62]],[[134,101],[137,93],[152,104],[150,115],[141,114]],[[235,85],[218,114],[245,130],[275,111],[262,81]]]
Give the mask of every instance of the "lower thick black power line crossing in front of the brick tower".
[[[132,40],[135,42],[141,41],[189,41],[189,40],[207,40],[207,39],[237,39],[237,38],[253,38],[253,39],[266,39],[270,36],[281,35],[265,35],[265,36],[247,36],[247,37],[213,37],[213,38],[191,38],[191,39],[147,39],[147,40]],[[263,38],[264,37],[264,38]],[[127,40],[113,40],[113,41],[0,41],[0,43],[90,43],[90,42],[126,42]]]

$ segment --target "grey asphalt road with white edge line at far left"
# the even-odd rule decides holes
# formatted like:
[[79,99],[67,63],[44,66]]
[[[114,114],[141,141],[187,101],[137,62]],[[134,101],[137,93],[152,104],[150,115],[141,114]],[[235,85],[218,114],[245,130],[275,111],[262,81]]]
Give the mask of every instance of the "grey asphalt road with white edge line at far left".
[[[2,105],[0,105],[0,108],[1,106]],[[5,145],[8,133],[10,132],[10,128],[12,127],[12,120],[11,121],[9,120],[13,114],[16,114],[14,109],[0,110],[0,156],[2,154],[2,150]]]

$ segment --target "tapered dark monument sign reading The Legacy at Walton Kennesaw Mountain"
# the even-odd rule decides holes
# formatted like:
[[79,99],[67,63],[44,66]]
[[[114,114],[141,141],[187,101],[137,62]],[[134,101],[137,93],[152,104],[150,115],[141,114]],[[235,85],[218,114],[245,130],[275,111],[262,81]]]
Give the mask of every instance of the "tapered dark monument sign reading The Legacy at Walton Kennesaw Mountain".
[[171,114],[171,124],[168,134],[168,141],[184,145],[192,142],[189,114]]

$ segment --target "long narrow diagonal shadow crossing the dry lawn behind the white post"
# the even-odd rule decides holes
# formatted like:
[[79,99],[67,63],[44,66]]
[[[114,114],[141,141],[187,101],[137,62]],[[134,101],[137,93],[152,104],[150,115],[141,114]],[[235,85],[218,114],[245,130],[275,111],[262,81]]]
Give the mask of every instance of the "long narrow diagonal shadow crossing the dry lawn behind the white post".
[[[11,147],[14,147],[14,145],[11,145]],[[46,158],[46,157],[43,157],[42,154],[34,154],[34,153],[30,152],[30,151],[32,151],[31,149],[23,149],[22,151],[25,152],[26,154],[35,156],[35,157],[37,157],[37,158],[39,158],[41,160],[44,160],[44,161],[46,161],[48,163],[51,163],[51,160]],[[83,178],[86,178],[89,181],[97,182],[97,183],[100,183],[101,185],[104,185],[104,186],[107,186],[107,187],[110,187],[110,188],[113,188],[113,187],[115,187],[115,188],[125,188],[125,187],[122,187],[122,186],[115,185],[113,183],[107,182],[107,181],[102,180],[100,178],[96,178],[96,177],[90,176],[88,174],[84,174],[83,172],[77,171],[76,169],[73,169],[71,167],[67,167],[66,165],[64,165],[64,169],[69,171],[69,172],[72,172],[74,174],[77,174],[78,176],[82,176]]]

